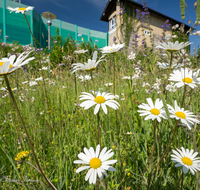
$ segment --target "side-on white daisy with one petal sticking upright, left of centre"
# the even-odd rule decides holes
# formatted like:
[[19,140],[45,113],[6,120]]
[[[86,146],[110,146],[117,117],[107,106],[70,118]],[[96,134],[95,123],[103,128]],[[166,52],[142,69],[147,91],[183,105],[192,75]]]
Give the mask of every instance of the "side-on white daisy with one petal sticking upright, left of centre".
[[92,60],[88,59],[87,63],[74,63],[72,64],[73,70],[72,73],[78,71],[78,70],[83,70],[83,71],[93,71],[96,69],[97,65],[103,61],[104,59],[102,59],[104,57],[104,55],[102,57],[100,57],[100,59],[97,61],[97,51],[94,52]]

